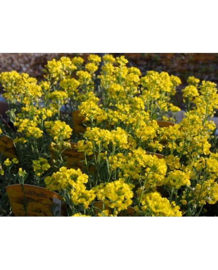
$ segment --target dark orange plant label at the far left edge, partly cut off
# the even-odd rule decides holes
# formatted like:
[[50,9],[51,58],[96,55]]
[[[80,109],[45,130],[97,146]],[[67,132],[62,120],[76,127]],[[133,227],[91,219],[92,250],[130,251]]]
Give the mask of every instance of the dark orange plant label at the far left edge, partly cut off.
[[12,138],[3,136],[0,138],[0,153],[7,158],[18,158],[15,143]]

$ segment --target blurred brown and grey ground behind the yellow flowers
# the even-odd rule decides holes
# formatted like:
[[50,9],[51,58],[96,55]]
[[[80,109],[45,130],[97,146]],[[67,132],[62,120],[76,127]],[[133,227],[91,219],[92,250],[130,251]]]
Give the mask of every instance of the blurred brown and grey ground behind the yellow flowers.
[[[94,53],[94,52],[92,52]],[[108,52],[110,53],[110,52]],[[43,69],[48,60],[61,56],[81,56],[84,59],[90,53],[0,53],[0,73],[15,70],[28,73],[39,81],[43,79]],[[95,53],[94,53],[95,54]],[[104,53],[96,53],[102,56]],[[186,86],[189,76],[200,81],[211,81],[218,84],[218,53],[111,53],[115,57],[125,55],[129,60],[127,66],[136,66],[142,76],[149,70],[168,72],[178,76],[182,85],[177,89],[175,105],[181,104],[181,89]],[[2,92],[0,84],[0,93]]]

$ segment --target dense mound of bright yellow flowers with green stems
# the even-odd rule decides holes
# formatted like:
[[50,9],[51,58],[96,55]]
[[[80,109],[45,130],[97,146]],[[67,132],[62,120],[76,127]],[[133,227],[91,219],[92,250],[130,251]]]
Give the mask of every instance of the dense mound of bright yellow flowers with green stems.
[[178,123],[181,80],[167,72],[142,75],[124,56],[90,54],[48,61],[44,73],[41,82],[0,74],[9,105],[0,121],[2,216],[12,213],[5,187],[18,183],[57,192],[73,217],[199,216],[216,204],[214,83],[187,79]]

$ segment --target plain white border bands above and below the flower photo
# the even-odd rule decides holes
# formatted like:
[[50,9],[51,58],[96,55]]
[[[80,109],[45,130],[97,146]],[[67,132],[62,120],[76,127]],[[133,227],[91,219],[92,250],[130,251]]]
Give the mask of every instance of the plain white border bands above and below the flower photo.
[[[215,1],[1,1],[0,52],[216,52]],[[217,219],[0,218],[2,269],[205,269]]]

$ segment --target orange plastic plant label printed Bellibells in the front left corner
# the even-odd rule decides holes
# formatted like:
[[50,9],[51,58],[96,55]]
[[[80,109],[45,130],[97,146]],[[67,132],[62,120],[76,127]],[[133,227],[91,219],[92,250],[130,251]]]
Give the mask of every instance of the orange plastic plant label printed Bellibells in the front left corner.
[[6,191],[16,217],[52,217],[55,216],[54,211],[60,209],[61,216],[66,215],[64,205],[60,204],[63,198],[54,191],[27,184],[9,185]]

